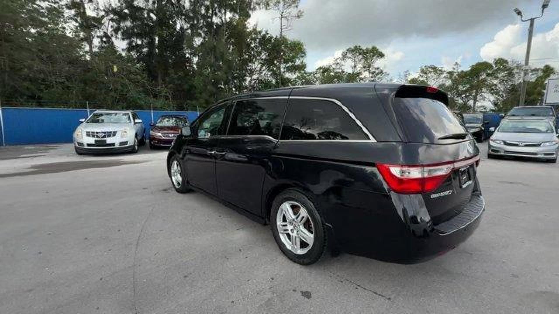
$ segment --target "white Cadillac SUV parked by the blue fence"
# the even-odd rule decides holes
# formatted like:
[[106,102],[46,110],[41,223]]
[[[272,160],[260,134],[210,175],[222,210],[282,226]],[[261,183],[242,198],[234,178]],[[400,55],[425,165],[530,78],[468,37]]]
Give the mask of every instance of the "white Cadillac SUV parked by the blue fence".
[[74,131],[75,153],[138,152],[145,144],[144,123],[134,111],[97,110]]

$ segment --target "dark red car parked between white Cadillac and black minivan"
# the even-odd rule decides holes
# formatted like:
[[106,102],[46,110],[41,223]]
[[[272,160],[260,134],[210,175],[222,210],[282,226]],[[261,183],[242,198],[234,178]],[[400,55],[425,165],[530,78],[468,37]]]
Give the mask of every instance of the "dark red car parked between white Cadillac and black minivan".
[[173,140],[181,131],[181,127],[185,126],[188,126],[188,118],[186,116],[160,116],[156,123],[151,123],[149,148],[155,149],[162,146],[171,146]]

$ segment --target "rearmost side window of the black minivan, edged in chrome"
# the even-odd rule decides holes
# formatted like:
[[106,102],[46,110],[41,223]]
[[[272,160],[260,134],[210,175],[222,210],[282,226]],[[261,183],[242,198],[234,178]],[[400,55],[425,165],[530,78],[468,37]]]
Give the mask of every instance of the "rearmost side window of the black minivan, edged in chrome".
[[368,140],[337,103],[318,99],[290,99],[281,139]]

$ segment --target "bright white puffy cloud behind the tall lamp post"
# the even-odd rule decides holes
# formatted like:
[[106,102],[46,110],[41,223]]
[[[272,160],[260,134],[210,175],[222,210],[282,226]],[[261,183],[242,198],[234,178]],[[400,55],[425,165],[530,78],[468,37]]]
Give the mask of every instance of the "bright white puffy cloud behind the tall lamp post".
[[[499,31],[493,41],[481,47],[480,55],[485,61],[503,57],[515,60],[524,60],[526,52],[525,29],[522,25],[509,25]],[[549,58],[559,58],[559,22],[551,31],[534,34],[530,65],[541,66]],[[534,60],[540,59],[540,60]]]

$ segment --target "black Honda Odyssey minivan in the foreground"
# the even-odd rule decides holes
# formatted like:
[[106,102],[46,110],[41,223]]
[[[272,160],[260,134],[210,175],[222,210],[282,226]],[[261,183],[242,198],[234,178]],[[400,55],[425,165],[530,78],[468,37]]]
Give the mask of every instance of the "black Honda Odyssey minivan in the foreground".
[[418,263],[465,241],[485,207],[479,150],[447,104],[408,84],[243,94],[182,129],[167,172],[177,192],[269,223],[296,263],[327,249]]

